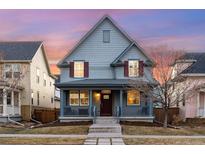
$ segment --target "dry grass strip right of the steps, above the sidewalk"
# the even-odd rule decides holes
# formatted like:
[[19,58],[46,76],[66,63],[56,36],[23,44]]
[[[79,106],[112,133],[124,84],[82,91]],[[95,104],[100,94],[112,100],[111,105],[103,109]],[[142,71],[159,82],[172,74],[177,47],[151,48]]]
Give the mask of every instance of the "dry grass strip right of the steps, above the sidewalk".
[[184,127],[180,129],[156,126],[122,125],[125,135],[205,135],[205,127]]

